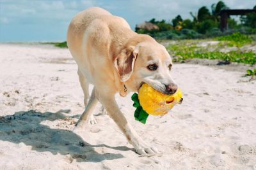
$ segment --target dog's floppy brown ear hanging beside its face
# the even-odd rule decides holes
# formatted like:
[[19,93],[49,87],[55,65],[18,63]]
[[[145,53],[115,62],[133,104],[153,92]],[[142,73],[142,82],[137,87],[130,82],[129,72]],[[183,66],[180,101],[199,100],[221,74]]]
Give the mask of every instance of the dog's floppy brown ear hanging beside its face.
[[135,46],[125,48],[117,55],[114,65],[122,82],[130,78],[137,56],[138,48],[135,48]]

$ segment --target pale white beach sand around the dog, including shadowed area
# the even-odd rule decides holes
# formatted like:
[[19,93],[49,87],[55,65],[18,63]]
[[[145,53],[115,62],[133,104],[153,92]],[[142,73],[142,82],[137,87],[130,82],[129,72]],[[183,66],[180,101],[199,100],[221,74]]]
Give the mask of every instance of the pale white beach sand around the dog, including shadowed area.
[[223,68],[175,64],[184,101],[145,125],[134,120],[131,94],[116,96],[163,152],[140,157],[100,104],[98,123],[72,132],[84,106],[67,49],[0,44],[0,169],[256,169],[256,82]]

